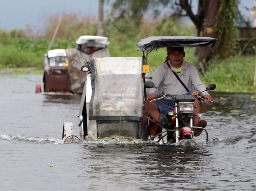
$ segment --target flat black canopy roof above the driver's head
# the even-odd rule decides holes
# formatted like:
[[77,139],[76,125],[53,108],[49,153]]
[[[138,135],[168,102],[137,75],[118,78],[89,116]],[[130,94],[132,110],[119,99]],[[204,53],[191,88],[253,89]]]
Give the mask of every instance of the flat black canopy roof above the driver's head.
[[199,36],[150,36],[136,43],[137,50],[150,51],[169,46],[214,46],[217,39]]

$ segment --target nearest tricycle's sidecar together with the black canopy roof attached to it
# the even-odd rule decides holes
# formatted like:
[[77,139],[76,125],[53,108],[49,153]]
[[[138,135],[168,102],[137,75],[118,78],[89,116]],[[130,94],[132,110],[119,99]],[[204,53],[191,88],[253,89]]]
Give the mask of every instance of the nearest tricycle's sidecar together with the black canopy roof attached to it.
[[[73,123],[64,122],[62,138],[72,142],[109,138],[149,139],[145,74],[149,72],[148,54],[167,46],[214,46],[209,37],[153,36],[136,46],[142,57],[104,57],[91,59],[81,70],[88,72],[78,112],[79,135]],[[82,72],[81,71],[81,72]]]

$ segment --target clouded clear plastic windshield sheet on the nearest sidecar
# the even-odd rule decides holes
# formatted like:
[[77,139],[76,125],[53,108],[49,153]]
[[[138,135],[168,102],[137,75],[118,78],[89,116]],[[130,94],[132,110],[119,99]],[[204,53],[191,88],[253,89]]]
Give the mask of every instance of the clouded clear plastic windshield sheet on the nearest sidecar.
[[142,120],[142,58],[108,57],[90,60],[92,98],[90,120]]

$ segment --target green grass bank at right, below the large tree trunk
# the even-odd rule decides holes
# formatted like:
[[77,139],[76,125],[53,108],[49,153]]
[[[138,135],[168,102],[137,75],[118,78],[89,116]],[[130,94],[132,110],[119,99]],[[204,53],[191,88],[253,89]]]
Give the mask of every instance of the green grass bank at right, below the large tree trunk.
[[204,84],[215,83],[216,91],[256,92],[253,88],[255,57],[235,56],[225,60],[215,57],[201,75]]

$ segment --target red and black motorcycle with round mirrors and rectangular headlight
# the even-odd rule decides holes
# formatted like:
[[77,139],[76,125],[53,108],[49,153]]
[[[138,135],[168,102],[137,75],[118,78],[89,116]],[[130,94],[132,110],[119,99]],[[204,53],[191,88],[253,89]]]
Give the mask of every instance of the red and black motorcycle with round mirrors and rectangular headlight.
[[[144,87],[157,88],[155,87],[154,83],[151,81],[145,82]],[[204,91],[214,90],[215,88],[216,88],[215,84],[209,84]],[[198,116],[198,117],[202,116],[201,113],[197,113],[197,114],[193,113],[194,108],[196,108],[194,101],[195,99],[198,99],[199,101],[207,101],[207,99],[205,99],[204,96],[202,95],[204,91],[199,92],[199,94],[194,96],[191,96],[191,95],[174,96],[174,95],[163,93],[162,96],[151,100],[150,102],[159,100],[159,99],[164,99],[164,98],[171,98],[175,102],[175,107],[173,108],[172,111],[168,112],[168,116],[166,116],[171,123],[171,125],[168,126],[167,128],[164,128],[161,124],[156,123],[155,120],[148,117],[150,121],[153,121],[151,125],[157,124],[159,127],[164,129],[163,132],[161,131],[160,133],[154,136],[150,136],[151,138],[149,140],[154,140],[155,138],[158,138],[158,141],[161,141],[165,136],[167,136],[167,142],[177,143],[181,140],[192,139],[194,136],[194,129],[202,129],[206,133],[206,142],[208,142],[207,130],[202,127],[193,126],[193,116]]]

